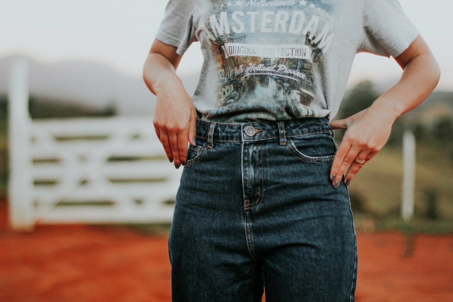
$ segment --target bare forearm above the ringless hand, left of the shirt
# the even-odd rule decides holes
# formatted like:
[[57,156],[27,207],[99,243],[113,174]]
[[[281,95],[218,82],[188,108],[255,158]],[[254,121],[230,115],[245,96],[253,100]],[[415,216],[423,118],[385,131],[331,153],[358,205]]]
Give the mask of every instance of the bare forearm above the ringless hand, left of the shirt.
[[148,54],[143,67],[143,80],[155,95],[166,87],[182,86],[181,79],[176,75],[176,68],[159,53]]

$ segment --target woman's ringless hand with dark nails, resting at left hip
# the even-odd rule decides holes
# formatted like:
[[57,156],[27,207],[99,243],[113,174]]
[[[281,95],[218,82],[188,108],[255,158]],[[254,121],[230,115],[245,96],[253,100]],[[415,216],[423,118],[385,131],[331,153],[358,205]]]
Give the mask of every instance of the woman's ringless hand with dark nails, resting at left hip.
[[155,91],[154,128],[170,162],[179,168],[187,161],[187,142],[196,144],[197,112],[176,75],[156,85]]

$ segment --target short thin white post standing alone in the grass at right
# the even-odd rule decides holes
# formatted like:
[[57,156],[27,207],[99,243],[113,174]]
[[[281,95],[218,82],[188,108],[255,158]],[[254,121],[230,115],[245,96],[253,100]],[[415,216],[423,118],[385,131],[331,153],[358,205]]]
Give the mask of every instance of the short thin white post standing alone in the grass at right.
[[403,134],[403,187],[401,191],[401,217],[409,221],[414,215],[415,188],[415,136],[405,129]]

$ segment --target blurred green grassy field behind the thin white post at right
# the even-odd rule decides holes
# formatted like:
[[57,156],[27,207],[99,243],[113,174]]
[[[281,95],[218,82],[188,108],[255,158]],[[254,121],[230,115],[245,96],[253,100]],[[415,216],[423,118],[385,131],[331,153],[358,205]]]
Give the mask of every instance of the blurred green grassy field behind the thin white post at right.
[[[423,155],[420,155],[423,154]],[[437,161],[426,158],[444,158]],[[423,217],[427,211],[426,192],[436,194],[441,221],[453,222],[453,164],[442,149],[419,145],[415,176],[414,216]],[[364,208],[376,217],[399,214],[402,177],[401,149],[385,147],[357,173],[349,190],[352,198],[362,197]]]

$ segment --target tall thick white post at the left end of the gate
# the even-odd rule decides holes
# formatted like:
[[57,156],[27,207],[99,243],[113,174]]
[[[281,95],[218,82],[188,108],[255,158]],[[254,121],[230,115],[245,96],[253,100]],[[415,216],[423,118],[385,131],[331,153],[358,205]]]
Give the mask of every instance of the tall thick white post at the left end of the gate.
[[11,62],[8,87],[10,226],[34,227],[33,179],[30,157],[29,70],[24,58]]

